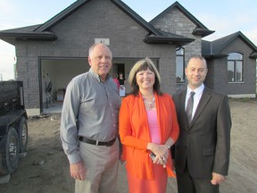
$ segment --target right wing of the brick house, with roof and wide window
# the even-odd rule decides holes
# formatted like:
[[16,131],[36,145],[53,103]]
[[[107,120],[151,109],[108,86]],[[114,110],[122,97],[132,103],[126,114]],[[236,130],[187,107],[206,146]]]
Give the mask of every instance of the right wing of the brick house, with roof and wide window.
[[202,41],[202,50],[209,69],[208,87],[232,97],[255,97],[256,46],[242,32]]

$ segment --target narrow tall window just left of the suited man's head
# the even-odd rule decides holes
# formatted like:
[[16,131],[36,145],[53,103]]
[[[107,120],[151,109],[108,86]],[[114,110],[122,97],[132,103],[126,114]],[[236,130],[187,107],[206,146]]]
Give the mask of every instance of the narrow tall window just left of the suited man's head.
[[185,50],[182,47],[176,50],[176,78],[177,83],[185,82]]

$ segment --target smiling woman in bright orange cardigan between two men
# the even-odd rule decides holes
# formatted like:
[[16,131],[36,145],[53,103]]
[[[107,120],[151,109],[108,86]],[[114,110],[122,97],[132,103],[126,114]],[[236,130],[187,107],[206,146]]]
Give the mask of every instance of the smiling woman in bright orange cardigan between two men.
[[119,121],[129,192],[165,193],[168,176],[175,177],[170,155],[179,133],[175,106],[162,94],[159,72],[147,57],[133,66],[129,84],[132,92],[121,103]]

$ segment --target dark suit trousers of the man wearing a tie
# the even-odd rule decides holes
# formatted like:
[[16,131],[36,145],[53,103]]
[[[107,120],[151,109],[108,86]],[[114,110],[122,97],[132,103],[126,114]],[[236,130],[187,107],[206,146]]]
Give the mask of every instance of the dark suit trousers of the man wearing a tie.
[[220,186],[212,185],[211,179],[194,178],[188,172],[187,164],[184,172],[178,172],[178,193],[219,193]]

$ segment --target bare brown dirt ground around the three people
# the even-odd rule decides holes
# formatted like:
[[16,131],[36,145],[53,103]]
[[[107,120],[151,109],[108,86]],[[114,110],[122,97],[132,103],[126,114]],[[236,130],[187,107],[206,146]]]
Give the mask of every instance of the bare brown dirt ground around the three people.
[[[221,193],[257,192],[257,100],[230,100],[233,119],[231,155],[227,180]],[[60,142],[60,114],[29,118],[28,154],[1,193],[74,192],[69,164]],[[120,164],[118,189],[128,192],[125,164]],[[176,180],[169,179],[167,193],[177,193]]]

